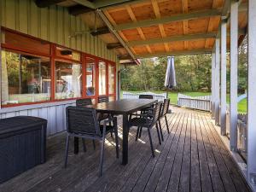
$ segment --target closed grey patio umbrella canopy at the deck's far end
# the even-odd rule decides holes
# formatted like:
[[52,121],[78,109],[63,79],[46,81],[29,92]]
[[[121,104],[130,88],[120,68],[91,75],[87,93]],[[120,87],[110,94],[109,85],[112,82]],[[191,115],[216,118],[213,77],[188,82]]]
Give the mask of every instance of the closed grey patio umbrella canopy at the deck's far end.
[[177,84],[176,84],[176,74],[175,74],[175,67],[174,67],[174,57],[168,56],[165,86],[167,89],[172,89],[176,85]]

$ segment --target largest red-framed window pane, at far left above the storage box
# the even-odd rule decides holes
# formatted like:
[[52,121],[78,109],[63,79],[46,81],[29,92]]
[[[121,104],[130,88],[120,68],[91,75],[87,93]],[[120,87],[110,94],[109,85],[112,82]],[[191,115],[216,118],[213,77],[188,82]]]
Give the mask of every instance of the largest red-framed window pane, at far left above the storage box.
[[50,100],[48,57],[2,50],[2,104]]

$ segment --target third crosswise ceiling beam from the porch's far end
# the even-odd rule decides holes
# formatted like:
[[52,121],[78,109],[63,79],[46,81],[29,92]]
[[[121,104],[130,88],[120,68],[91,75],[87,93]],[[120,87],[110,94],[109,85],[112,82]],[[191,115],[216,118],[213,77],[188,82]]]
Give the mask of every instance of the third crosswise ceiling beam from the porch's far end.
[[137,22],[119,24],[114,26],[114,28],[118,31],[121,31],[125,29],[132,29],[132,28],[143,27],[143,26],[155,26],[155,25],[170,23],[174,21],[192,20],[192,19],[198,19],[201,17],[216,16],[216,15],[221,15],[220,9],[211,9],[211,10],[198,11],[198,12],[193,12],[188,14],[172,15],[172,16],[166,16],[166,17],[150,19],[150,20],[139,20]]

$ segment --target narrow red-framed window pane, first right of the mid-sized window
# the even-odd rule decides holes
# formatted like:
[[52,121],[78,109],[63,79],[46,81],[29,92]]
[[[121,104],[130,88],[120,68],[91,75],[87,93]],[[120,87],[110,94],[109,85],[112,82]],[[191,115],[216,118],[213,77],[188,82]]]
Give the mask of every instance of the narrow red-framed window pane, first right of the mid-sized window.
[[86,96],[95,96],[96,92],[96,64],[95,60],[92,58],[86,58]]

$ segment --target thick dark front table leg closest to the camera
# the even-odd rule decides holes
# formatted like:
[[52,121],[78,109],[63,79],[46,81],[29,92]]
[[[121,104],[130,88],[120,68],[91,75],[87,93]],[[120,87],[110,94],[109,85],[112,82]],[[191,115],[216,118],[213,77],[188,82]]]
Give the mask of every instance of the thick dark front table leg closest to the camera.
[[128,115],[123,115],[123,165],[126,165],[128,163],[128,132],[129,132],[129,126],[128,126]]

